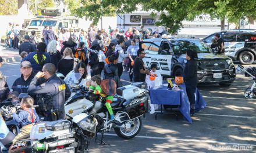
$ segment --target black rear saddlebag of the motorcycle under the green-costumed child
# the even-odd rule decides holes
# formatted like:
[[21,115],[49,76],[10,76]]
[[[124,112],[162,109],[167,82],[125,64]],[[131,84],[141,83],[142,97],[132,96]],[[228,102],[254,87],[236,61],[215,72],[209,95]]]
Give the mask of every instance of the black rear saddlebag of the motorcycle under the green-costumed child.
[[126,112],[129,114],[130,118],[136,118],[145,113],[146,108],[148,107],[147,95],[141,95],[131,100],[130,103],[126,104]]

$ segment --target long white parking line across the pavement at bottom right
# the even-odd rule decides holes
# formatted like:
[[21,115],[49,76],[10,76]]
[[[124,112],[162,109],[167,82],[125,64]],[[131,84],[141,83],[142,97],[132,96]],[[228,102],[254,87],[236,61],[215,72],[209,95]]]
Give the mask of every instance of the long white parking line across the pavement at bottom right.
[[[116,136],[116,134],[111,133],[105,133],[106,136]],[[196,142],[196,143],[211,143],[211,144],[229,144],[229,145],[249,145],[256,147],[256,144],[240,144],[240,143],[225,143],[215,140],[197,140],[197,139],[177,139],[177,138],[170,138],[170,137],[151,137],[151,136],[136,136],[137,138],[143,138],[143,139],[160,139],[160,140],[171,140],[171,141],[186,141],[186,142]]]

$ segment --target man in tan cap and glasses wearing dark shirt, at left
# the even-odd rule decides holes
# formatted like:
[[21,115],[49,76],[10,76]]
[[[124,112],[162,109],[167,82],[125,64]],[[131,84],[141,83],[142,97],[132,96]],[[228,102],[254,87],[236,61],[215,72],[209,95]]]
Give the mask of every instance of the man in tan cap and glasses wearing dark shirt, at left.
[[20,64],[20,72],[22,73],[22,75],[20,76],[20,78],[17,78],[13,83],[13,92],[27,93],[30,82],[35,76],[32,70],[33,68],[29,61],[23,61]]

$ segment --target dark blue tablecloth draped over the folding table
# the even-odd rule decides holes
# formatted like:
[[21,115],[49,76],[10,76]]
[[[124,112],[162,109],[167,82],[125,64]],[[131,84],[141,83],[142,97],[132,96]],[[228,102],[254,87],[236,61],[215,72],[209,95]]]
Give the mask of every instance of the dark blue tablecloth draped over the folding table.
[[[190,118],[190,103],[186,93],[186,86],[180,85],[183,90],[168,90],[167,86],[163,88],[150,90],[151,104],[163,104],[163,105],[179,105],[179,110],[182,112],[184,119],[192,123]],[[200,94],[199,90],[195,90],[195,111],[200,111],[205,108],[207,103]]]

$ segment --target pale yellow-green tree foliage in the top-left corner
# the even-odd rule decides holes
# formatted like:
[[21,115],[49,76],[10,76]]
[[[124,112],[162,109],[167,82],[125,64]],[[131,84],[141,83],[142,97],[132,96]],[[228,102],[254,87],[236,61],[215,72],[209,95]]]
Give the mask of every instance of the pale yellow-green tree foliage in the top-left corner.
[[15,15],[18,13],[18,1],[0,0],[0,15]]

